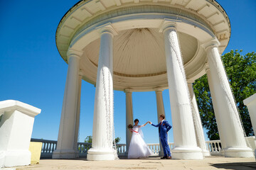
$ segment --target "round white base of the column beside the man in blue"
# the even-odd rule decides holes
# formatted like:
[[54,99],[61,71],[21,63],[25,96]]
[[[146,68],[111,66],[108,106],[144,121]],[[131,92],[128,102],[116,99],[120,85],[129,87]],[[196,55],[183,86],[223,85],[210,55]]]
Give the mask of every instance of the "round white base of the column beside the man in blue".
[[174,147],[174,149],[171,149],[171,158],[203,159],[203,153],[199,147]]

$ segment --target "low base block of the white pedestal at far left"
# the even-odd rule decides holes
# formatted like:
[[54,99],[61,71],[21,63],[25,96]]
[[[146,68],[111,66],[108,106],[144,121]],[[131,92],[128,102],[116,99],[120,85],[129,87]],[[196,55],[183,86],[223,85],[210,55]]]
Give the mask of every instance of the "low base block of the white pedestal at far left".
[[31,152],[0,151],[0,167],[24,166],[31,164]]

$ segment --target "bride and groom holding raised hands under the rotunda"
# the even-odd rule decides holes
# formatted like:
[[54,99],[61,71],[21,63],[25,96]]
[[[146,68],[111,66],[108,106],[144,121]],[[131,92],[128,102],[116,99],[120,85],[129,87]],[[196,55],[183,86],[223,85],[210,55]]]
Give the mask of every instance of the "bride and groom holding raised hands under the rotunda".
[[129,130],[131,130],[132,132],[132,139],[129,145],[128,159],[149,157],[149,155],[152,154],[151,149],[149,149],[149,147],[143,140],[143,133],[141,130],[141,128],[144,127],[147,123],[159,128],[159,137],[161,140],[161,145],[164,149],[164,157],[161,157],[161,159],[171,159],[170,147],[167,142],[167,132],[171,129],[171,125],[166,120],[164,120],[165,115],[160,115],[159,118],[161,122],[158,125],[154,125],[150,121],[146,122],[144,125],[138,125],[139,120],[135,119],[134,126],[128,126]]

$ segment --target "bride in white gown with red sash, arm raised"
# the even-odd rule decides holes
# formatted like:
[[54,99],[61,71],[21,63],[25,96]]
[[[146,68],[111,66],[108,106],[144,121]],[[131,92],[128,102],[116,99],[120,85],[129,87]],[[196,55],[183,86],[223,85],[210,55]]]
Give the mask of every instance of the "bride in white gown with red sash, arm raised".
[[128,159],[138,159],[140,157],[149,157],[149,155],[152,154],[151,149],[146,145],[146,143],[143,140],[143,133],[141,128],[144,127],[147,123],[144,125],[138,125],[139,120],[134,120],[134,126],[133,128],[129,128],[132,132],[132,139],[129,145],[129,151],[128,151]]

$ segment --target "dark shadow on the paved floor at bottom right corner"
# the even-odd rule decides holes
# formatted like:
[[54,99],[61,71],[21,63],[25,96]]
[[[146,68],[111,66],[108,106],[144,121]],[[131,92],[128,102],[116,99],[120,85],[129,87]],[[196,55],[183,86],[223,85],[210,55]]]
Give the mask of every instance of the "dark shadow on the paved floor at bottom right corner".
[[256,162],[233,162],[224,164],[211,164],[218,169],[250,170],[256,169]]

